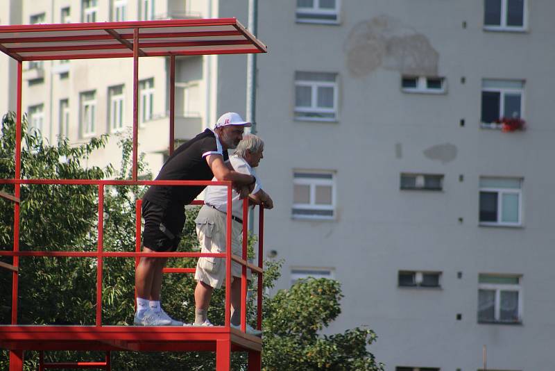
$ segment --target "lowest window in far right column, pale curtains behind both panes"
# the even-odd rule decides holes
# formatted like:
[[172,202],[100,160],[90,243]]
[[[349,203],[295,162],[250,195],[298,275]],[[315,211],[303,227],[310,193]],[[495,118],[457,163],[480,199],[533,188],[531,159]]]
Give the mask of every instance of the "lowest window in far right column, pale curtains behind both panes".
[[522,322],[522,277],[479,274],[478,322]]

